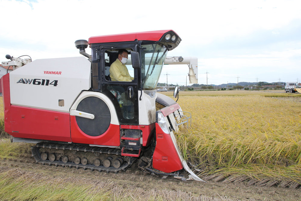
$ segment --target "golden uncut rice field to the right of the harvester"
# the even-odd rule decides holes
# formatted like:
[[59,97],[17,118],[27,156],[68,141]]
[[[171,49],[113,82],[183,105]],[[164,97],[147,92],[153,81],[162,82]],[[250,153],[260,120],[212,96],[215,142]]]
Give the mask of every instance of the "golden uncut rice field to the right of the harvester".
[[300,94],[221,91],[179,95],[178,103],[183,111],[192,113],[193,123],[177,134],[177,142],[201,178],[300,187]]

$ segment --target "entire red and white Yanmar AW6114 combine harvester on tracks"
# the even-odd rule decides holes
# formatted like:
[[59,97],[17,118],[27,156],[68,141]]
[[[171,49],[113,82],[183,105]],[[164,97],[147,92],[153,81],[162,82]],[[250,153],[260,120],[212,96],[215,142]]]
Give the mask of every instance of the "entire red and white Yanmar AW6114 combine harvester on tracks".
[[[11,61],[2,65],[14,71],[1,82],[11,142],[35,143],[41,164],[118,172],[138,161],[151,174],[187,180],[180,174],[185,169],[188,179],[203,181],[188,168],[173,134],[191,115],[156,91],[167,52],[180,42],[174,31],[162,30],[77,40],[88,59],[7,56]],[[110,79],[120,49],[131,58],[129,82]],[[191,68],[197,80],[197,66]],[[156,111],[156,102],[163,108]]]

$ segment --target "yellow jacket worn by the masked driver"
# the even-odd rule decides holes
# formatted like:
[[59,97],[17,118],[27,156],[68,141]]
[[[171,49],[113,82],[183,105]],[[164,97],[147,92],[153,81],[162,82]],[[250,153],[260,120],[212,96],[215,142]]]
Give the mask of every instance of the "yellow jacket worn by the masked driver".
[[132,82],[134,80],[134,77],[130,76],[126,65],[121,63],[118,58],[111,64],[110,77],[112,81]]

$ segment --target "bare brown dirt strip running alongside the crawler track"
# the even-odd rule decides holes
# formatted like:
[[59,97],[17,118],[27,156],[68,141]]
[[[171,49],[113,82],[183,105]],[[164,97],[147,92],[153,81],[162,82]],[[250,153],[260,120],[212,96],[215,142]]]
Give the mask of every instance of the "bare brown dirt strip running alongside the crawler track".
[[247,186],[244,183],[222,183],[207,181],[180,181],[172,177],[162,179],[137,170],[135,165],[126,172],[107,173],[76,168],[55,167],[36,164],[35,160],[24,154],[18,159],[1,159],[1,167],[18,168],[19,171],[36,172],[53,177],[79,177],[84,180],[111,181],[123,187],[138,187],[145,190],[172,190],[191,194],[191,197],[207,196],[211,200],[301,200],[300,189],[280,187]]

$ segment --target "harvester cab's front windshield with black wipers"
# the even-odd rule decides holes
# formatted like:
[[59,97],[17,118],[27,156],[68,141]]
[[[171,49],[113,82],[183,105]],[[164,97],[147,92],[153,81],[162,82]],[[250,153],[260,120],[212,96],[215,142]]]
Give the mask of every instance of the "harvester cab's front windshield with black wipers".
[[159,81],[167,50],[160,44],[142,45],[142,85],[143,89],[155,89]]

